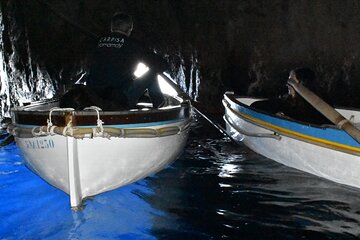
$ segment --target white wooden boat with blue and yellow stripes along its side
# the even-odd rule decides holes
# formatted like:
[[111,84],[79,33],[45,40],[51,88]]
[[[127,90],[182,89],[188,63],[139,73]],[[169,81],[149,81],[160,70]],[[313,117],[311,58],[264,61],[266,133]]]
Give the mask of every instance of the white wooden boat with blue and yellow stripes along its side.
[[[331,181],[360,188],[360,144],[334,125],[316,126],[250,107],[261,99],[224,94],[226,131],[267,158]],[[355,127],[360,111],[336,109]]]

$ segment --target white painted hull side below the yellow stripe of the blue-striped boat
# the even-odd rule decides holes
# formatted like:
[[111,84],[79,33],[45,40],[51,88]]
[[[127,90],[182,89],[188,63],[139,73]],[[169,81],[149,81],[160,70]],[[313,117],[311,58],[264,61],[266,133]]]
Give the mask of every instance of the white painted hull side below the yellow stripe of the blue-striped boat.
[[[352,115],[349,111],[346,113],[347,116]],[[225,107],[225,114],[236,127],[247,132],[273,134],[270,130],[240,118],[228,107]],[[359,116],[357,112],[354,112],[353,115],[356,118]],[[357,118],[357,120],[359,119]],[[360,188],[360,157],[357,155],[329,149],[284,135],[281,135],[280,140],[246,136],[227,123],[226,130],[236,141],[243,142],[254,152],[267,158],[337,183]]]

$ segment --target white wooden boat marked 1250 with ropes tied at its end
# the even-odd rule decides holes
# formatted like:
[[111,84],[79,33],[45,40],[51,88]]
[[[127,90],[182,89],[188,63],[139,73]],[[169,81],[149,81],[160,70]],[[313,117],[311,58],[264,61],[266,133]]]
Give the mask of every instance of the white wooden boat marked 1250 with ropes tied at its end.
[[169,98],[159,109],[117,112],[37,102],[12,109],[9,131],[27,166],[79,208],[84,198],[153,174],[183,151],[191,103],[181,93]]

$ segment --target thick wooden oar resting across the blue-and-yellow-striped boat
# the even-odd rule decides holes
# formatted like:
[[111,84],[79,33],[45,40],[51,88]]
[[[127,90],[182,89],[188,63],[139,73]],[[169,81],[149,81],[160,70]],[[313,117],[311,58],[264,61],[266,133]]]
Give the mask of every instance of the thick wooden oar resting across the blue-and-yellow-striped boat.
[[337,125],[340,129],[343,129],[345,132],[347,132],[358,143],[360,143],[360,130],[354,127],[354,125],[349,120],[347,120],[319,96],[302,85],[300,81],[296,79],[296,76],[292,75],[288,80],[288,84],[292,86],[295,91],[300,94],[300,96],[302,96],[308,103],[310,103],[316,110],[328,118],[332,123]]

